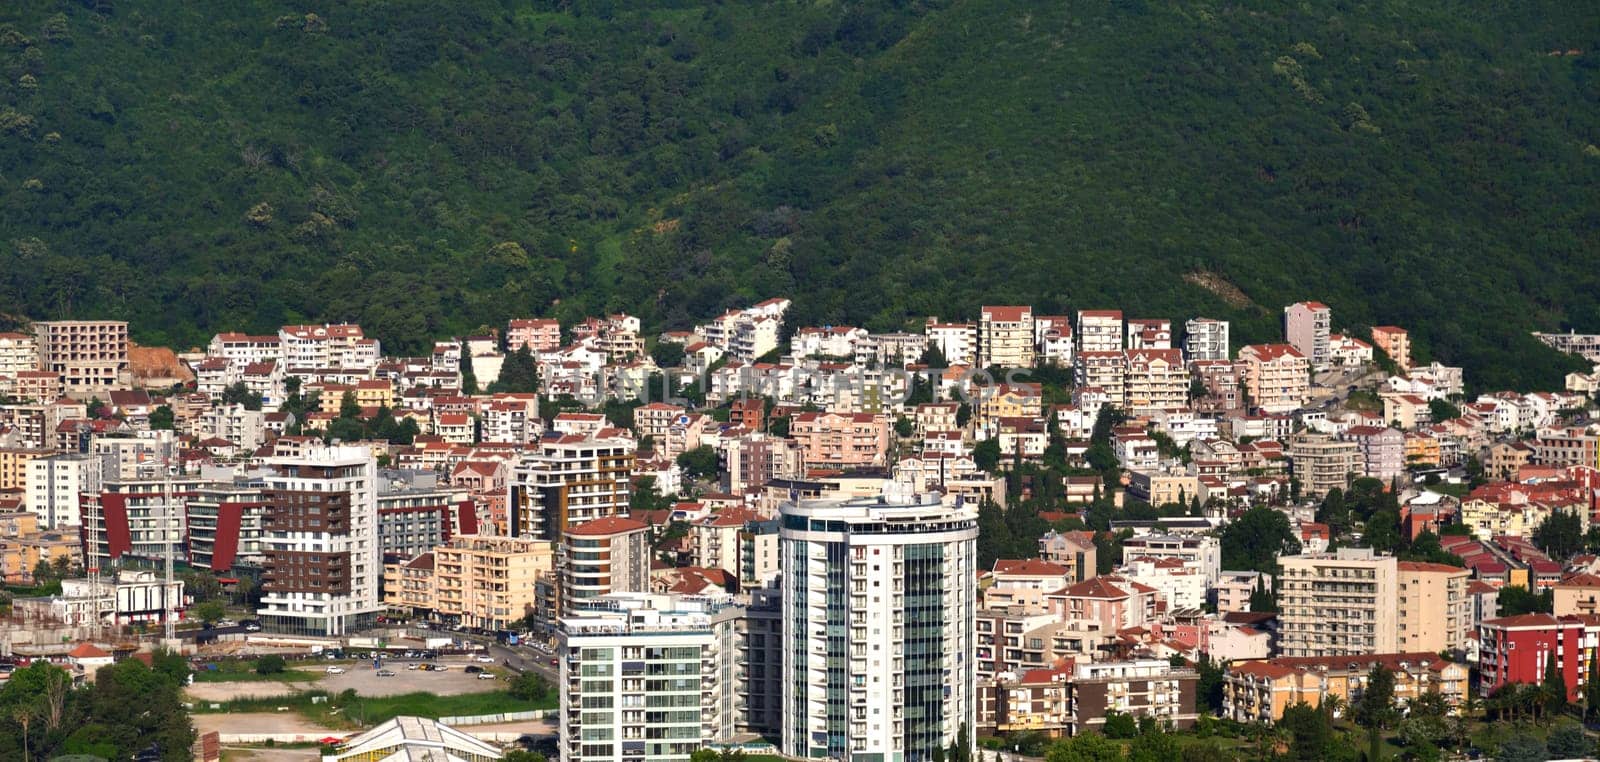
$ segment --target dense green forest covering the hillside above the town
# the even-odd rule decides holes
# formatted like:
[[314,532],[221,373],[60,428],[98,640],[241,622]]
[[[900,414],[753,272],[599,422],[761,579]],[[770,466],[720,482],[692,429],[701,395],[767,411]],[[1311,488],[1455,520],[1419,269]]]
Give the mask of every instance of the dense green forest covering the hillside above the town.
[[1557,0],[5,3],[0,312],[405,351],[1317,298],[1550,386],[1528,331],[1600,330],[1597,91]]

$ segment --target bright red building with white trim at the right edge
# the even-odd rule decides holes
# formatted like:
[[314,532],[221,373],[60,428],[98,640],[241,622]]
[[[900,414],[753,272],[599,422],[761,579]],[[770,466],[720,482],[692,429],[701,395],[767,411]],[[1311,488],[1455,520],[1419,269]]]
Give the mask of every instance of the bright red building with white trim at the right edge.
[[1600,645],[1600,616],[1525,613],[1478,624],[1478,690],[1486,696],[1510,682],[1544,682],[1550,653],[1570,700],[1589,677]]

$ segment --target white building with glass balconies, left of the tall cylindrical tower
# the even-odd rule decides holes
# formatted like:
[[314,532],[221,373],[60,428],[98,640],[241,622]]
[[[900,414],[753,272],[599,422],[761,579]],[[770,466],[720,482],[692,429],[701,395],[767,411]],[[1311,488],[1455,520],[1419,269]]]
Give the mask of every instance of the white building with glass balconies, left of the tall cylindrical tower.
[[685,762],[733,740],[742,610],[725,597],[614,594],[560,621],[562,762]]

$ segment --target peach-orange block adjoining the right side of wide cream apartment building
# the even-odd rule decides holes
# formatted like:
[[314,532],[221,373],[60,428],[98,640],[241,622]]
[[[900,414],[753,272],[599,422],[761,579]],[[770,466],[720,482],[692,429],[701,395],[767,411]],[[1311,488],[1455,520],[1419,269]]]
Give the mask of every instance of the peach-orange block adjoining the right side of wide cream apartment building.
[[1395,562],[1400,583],[1400,620],[1395,640],[1402,652],[1464,653],[1472,632],[1472,572],[1448,563]]

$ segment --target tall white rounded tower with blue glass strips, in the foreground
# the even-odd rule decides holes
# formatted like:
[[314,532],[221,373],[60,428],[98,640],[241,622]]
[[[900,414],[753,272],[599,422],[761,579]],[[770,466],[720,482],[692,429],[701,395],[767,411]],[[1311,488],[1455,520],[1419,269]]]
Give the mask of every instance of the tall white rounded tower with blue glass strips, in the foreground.
[[782,506],[784,754],[933,759],[976,727],[976,543],[938,496]]

